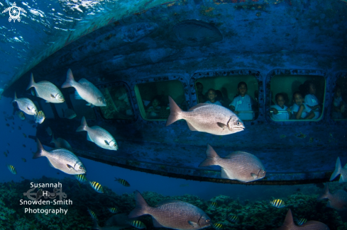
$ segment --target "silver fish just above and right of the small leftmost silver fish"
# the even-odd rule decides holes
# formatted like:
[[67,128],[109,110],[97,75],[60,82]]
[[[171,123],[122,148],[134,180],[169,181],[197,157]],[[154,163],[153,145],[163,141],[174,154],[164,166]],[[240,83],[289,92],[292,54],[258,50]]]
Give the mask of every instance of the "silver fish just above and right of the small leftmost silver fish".
[[31,81],[26,90],[31,87],[35,88],[36,96],[43,98],[47,103],[63,103],[65,101],[62,92],[60,92],[57,86],[49,81],[40,81],[35,83],[33,74],[31,74]]

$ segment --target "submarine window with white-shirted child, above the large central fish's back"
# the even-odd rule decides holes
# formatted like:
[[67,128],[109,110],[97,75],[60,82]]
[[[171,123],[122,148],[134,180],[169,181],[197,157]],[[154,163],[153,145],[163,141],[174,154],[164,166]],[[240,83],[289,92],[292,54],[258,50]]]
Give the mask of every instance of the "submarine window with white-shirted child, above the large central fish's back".
[[213,91],[210,91],[213,89],[216,94],[214,103],[219,101],[241,120],[255,120],[258,117],[258,80],[253,75],[204,77],[197,79],[195,89],[198,103],[213,100]]

